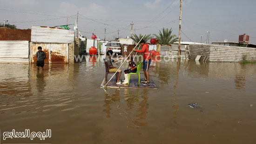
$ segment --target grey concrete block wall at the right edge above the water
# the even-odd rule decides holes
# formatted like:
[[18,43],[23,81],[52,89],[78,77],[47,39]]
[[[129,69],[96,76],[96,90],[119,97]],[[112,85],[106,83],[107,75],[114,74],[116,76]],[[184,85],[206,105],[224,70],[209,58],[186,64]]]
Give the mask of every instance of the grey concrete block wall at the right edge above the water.
[[192,59],[199,56],[209,56],[210,62],[239,62],[247,55],[247,60],[256,60],[256,48],[237,46],[190,44],[189,51]]

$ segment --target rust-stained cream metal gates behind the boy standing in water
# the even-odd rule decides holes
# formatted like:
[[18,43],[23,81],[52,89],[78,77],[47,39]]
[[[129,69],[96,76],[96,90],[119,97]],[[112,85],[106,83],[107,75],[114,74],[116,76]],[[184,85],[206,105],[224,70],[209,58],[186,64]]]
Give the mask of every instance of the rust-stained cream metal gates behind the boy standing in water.
[[46,53],[45,63],[68,63],[68,44],[33,42],[30,43],[30,63],[36,63],[36,52],[39,46]]

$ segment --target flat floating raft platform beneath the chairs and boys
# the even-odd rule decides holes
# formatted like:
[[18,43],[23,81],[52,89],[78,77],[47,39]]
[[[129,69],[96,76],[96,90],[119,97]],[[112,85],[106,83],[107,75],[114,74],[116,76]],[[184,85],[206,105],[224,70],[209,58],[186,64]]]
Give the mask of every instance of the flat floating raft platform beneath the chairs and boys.
[[[101,83],[101,88],[105,86],[105,78]],[[117,85],[115,84],[115,79],[112,79],[109,81],[107,88],[152,88],[157,89],[157,86],[155,85],[155,82],[153,80],[150,80],[150,85],[144,86],[142,82],[140,82],[140,85],[138,85],[137,79],[130,79],[130,84],[123,84],[123,85]]]

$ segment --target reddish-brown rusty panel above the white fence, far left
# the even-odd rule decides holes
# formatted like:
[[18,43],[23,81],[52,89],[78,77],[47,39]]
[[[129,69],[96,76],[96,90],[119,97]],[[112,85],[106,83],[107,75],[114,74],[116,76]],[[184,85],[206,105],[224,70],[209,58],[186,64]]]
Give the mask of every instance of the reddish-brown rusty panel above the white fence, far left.
[[30,41],[31,29],[10,29],[0,27],[0,41]]

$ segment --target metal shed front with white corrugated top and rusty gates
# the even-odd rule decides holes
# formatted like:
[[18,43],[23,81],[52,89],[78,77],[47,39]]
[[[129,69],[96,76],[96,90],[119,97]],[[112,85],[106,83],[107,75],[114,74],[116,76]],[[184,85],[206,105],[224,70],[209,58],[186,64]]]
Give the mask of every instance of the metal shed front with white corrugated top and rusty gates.
[[46,53],[45,63],[68,63],[68,44],[74,43],[74,31],[66,29],[32,26],[30,43],[30,63],[36,62],[39,46]]

